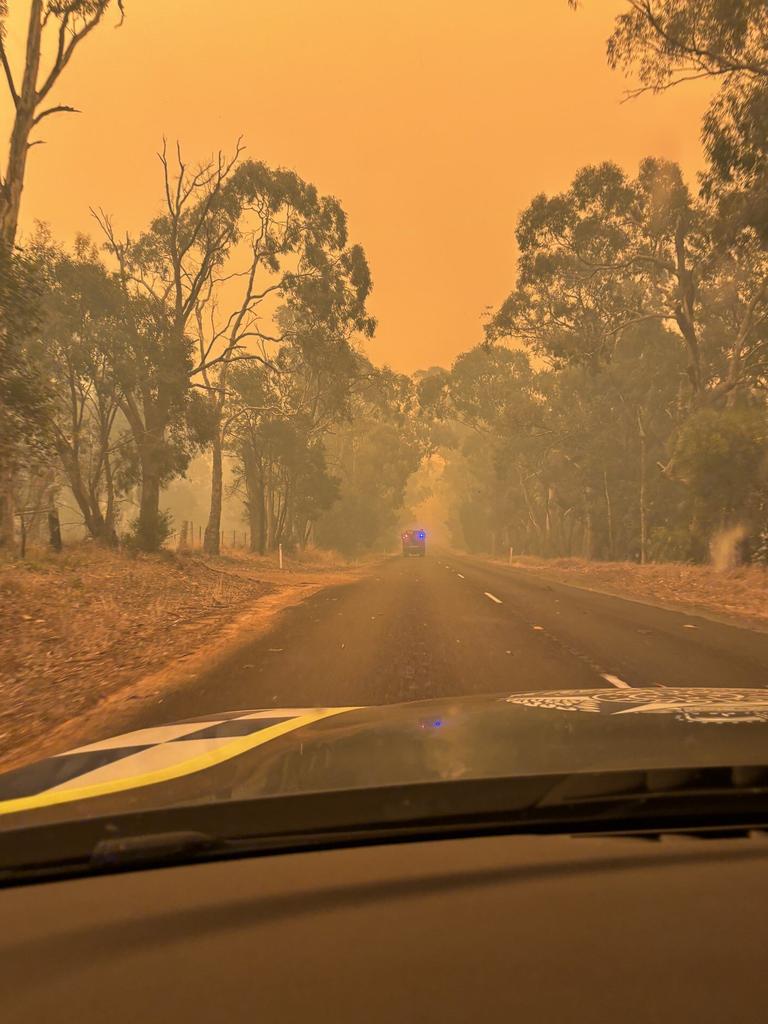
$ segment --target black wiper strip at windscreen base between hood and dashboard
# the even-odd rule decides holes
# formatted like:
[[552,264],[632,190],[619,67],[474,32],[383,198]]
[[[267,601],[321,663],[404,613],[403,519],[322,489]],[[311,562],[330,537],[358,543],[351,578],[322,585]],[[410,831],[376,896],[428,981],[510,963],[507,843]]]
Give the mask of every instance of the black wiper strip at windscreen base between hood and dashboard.
[[3,834],[0,885],[472,836],[733,835],[765,828],[765,766],[461,779],[190,804],[19,828]]

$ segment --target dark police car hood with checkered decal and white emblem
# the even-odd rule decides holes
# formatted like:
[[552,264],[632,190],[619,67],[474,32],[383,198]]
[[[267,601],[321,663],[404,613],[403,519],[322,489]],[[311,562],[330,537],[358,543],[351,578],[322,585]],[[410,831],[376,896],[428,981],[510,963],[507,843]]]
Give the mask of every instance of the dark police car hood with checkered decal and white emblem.
[[768,763],[768,690],[537,691],[212,713],[0,775],[0,827],[412,782]]

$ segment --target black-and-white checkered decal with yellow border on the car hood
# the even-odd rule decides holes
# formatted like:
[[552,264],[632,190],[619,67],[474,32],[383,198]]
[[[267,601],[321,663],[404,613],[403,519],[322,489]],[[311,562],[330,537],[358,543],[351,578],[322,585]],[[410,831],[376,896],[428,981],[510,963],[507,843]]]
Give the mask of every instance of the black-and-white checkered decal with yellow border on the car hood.
[[[345,709],[236,711],[139,729],[0,774],[0,812],[63,803],[212,766],[260,742]],[[284,726],[275,729],[275,726]],[[269,736],[259,735],[274,730]],[[188,766],[188,768],[187,768]],[[70,796],[71,794],[71,796]],[[50,799],[46,799],[50,798]],[[12,802],[9,803],[9,802]],[[16,807],[16,802],[19,806]]]

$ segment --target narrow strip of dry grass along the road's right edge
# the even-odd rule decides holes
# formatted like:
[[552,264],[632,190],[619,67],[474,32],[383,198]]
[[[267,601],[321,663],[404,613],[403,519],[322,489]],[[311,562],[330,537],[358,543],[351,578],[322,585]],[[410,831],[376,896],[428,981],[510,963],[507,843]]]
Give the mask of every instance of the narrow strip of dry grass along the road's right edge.
[[663,604],[768,625],[768,570],[759,565],[718,571],[709,565],[678,562],[636,565],[633,562],[588,562],[581,558],[517,557],[517,568],[531,569],[562,583]]

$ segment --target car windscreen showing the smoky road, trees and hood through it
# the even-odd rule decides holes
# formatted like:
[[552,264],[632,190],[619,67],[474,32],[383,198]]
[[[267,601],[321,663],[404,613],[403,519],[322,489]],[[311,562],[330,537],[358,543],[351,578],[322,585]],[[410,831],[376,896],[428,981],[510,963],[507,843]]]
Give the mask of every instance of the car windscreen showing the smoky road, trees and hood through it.
[[764,0],[0,0],[0,58],[3,827],[768,760]]

